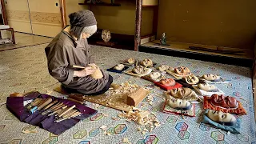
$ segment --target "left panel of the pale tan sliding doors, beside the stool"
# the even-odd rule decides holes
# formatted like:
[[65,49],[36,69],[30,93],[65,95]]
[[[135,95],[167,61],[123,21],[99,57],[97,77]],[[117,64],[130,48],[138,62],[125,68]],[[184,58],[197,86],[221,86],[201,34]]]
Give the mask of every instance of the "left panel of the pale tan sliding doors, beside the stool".
[[6,16],[15,31],[32,34],[27,0],[5,0]]

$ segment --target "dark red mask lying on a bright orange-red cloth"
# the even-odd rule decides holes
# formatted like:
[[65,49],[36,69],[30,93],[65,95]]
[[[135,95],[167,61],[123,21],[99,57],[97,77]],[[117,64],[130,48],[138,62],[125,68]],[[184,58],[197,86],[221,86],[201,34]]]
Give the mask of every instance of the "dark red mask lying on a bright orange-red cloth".
[[238,107],[238,102],[235,98],[224,96],[223,94],[211,95],[210,102],[214,106],[219,106],[225,109],[236,109]]

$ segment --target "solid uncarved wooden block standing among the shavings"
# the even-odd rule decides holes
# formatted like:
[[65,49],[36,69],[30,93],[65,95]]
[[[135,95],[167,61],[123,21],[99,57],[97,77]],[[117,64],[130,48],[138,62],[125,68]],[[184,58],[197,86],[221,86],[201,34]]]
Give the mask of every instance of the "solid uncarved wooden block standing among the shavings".
[[134,93],[127,96],[127,105],[138,106],[138,104],[146,98],[147,94],[148,92],[144,88],[140,87],[138,90],[134,91]]

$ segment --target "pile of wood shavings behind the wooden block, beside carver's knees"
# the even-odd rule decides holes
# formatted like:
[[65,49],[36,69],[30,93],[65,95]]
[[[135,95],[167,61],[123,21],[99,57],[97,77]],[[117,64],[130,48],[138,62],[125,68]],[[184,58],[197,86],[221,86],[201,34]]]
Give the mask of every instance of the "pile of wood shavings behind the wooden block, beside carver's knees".
[[138,85],[132,85],[129,82],[124,82],[118,88],[108,90],[106,92],[106,97],[110,97],[113,95],[118,95],[118,94],[130,94],[134,92],[135,90],[138,90]]

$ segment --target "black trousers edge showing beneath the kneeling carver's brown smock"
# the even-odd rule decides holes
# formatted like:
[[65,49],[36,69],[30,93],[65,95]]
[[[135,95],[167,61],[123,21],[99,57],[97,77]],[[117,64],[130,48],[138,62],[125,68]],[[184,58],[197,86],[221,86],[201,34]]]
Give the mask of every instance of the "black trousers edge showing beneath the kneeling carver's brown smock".
[[[109,90],[110,85],[111,85],[112,82],[113,82],[113,77],[111,75],[109,75],[109,81],[106,83],[106,86],[102,90],[99,90],[96,93],[86,94],[86,95],[99,95],[99,94],[103,94],[107,90]],[[63,86],[63,85],[62,85],[62,89],[65,90],[67,93],[81,93],[81,92],[79,92],[79,90],[70,89],[70,88],[68,88],[66,86]],[[82,94],[84,94],[84,93],[82,93]]]

